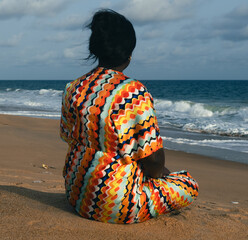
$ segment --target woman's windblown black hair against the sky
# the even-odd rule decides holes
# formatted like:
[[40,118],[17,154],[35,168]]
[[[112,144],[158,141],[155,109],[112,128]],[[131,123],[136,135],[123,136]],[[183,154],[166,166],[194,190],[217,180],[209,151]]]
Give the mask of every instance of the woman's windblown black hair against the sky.
[[136,45],[136,36],[132,23],[123,15],[102,9],[86,27],[91,30],[87,60],[98,60],[104,67],[117,67],[128,61]]

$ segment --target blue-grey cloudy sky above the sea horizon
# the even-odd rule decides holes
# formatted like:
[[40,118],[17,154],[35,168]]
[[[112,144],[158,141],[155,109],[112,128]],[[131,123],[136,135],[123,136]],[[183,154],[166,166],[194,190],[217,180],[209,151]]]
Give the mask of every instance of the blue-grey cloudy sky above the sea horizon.
[[74,80],[95,11],[134,25],[124,71],[138,80],[248,80],[247,0],[0,0],[0,80]]

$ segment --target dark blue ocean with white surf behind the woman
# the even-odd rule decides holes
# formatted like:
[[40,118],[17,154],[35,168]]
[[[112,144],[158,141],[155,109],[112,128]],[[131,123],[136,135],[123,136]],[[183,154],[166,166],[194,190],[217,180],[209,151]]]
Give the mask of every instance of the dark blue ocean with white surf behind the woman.
[[[69,81],[2,80],[0,114],[60,118]],[[167,149],[248,164],[248,81],[141,81]]]

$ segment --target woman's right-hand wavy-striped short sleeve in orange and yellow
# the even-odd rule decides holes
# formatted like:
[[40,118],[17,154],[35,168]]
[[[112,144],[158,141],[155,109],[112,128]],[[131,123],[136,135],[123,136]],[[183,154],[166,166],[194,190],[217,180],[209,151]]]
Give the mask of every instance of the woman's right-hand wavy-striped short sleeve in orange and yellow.
[[138,161],[163,147],[151,94],[131,81],[115,95],[111,114],[123,164]]

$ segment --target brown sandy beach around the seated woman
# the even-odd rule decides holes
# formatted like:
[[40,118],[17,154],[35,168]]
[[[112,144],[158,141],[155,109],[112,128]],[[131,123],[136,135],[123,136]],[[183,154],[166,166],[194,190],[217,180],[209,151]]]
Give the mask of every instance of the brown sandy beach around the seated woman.
[[198,181],[197,200],[132,225],[79,217],[67,203],[59,120],[0,115],[0,239],[248,239],[248,165],[166,150]]

